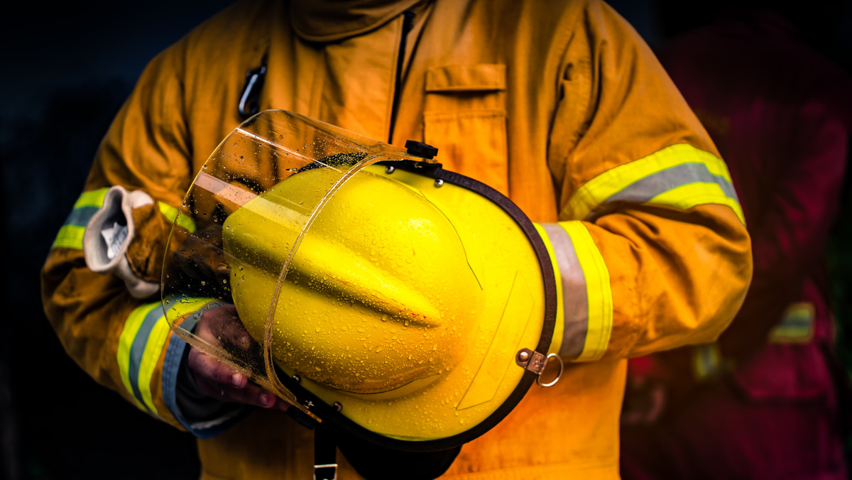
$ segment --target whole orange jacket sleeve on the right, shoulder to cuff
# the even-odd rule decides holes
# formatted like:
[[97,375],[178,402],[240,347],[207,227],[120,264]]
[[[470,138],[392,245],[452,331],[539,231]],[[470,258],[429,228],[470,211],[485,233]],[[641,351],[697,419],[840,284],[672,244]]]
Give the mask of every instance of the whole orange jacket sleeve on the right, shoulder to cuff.
[[659,62],[590,2],[562,60],[550,132],[561,356],[639,356],[709,342],[751,278],[728,169]]

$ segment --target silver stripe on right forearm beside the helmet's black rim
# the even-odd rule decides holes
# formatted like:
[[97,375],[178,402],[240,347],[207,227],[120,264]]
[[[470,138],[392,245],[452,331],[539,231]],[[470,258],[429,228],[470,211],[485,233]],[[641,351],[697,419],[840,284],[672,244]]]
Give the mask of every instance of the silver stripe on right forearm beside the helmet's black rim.
[[571,360],[583,352],[589,328],[589,299],[586,295],[586,280],[580,267],[573,241],[565,228],[556,223],[541,223],[553,244],[556,263],[562,279],[562,300],[565,312],[565,333],[559,355]]

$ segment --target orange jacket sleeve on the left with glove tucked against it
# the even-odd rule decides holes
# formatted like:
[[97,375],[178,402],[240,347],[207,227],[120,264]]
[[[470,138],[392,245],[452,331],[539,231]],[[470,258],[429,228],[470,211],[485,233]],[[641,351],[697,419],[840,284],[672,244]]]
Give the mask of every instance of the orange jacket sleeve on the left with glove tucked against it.
[[[148,65],[101,142],[83,194],[43,266],[42,298],[66,352],[96,381],[154,417],[193,430],[176,408],[185,344],[171,333],[159,292],[134,292],[146,297],[135,298],[126,278],[89,269],[83,247],[83,237],[93,237],[85,235],[87,225],[110,188],[144,192],[153,202],[124,216],[135,227],[125,270],[159,285],[166,239],[194,173],[182,117],[183,50],[184,43],[177,43]],[[208,302],[175,304],[181,310],[174,315],[192,317]]]

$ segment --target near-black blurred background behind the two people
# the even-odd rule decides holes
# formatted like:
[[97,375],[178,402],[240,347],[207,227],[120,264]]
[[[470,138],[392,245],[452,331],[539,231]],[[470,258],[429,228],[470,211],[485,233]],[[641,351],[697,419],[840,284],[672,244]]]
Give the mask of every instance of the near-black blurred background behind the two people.
[[[0,478],[199,475],[193,437],[96,385],[66,356],[43,315],[38,272],[141,70],[228,3],[30,3],[4,9],[0,182],[7,315],[0,333]],[[722,6],[688,3],[611,2],[652,48],[708,22]],[[849,72],[849,2],[804,4],[807,9],[799,6],[793,14],[817,26],[809,29],[815,46]],[[845,267],[835,262],[841,276],[847,272],[847,283],[836,286],[840,295],[852,292],[852,265],[849,257],[844,261]]]

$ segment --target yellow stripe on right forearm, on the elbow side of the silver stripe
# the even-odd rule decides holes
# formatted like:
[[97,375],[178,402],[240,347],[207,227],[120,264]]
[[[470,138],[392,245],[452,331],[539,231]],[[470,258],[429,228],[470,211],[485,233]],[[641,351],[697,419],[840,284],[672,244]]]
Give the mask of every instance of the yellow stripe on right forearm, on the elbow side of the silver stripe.
[[580,269],[586,281],[589,298],[589,327],[583,351],[578,361],[597,360],[607,351],[609,336],[613,332],[613,291],[609,285],[609,269],[601,252],[582,222],[561,222],[577,252]]

